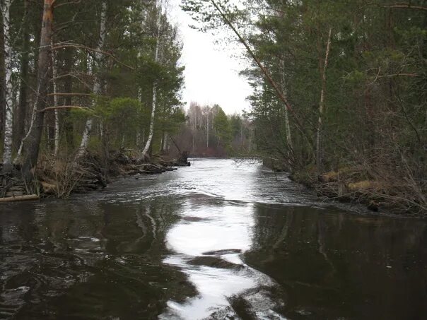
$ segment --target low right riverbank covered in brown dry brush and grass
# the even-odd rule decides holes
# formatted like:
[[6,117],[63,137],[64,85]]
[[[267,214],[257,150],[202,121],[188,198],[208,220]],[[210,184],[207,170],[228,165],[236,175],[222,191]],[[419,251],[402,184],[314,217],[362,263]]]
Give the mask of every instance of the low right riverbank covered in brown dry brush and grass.
[[278,159],[266,158],[263,164],[275,172],[291,172],[291,180],[314,190],[320,198],[361,204],[378,213],[427,216],[423,188],[414,179],[399,177],[397,172],[385,168],[372,170],[363,165],[353,165],[319,174],[315,166],[293,170]]

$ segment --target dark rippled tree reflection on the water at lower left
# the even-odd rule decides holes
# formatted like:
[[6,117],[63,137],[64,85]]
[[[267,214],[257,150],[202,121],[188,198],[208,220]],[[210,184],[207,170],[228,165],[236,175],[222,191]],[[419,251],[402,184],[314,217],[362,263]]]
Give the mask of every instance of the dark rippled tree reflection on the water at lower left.
[[150,319],[170,298],[194,294],[182,273],[161,263],[179,207],[158,197],[127,206],[48,201],[1,213],[0,318]]

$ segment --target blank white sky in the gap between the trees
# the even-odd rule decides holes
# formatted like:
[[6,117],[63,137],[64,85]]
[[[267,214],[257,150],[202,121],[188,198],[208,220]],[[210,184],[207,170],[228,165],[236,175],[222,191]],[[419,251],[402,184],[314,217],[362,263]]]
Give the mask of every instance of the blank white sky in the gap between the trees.
[[201,105],[220,105],[227,114],[248,109],[245,100],[252,92],[250,85],[239,71],[242,61],[232,54],[242,52],[236,42],[230,45],[214,44],[214,36],[199,32],[189,25],[192,18],[180,9],[181,0],[170,0],[171,20],[178,25],[184,45],[182,65],[185,66],[183,101],[195,101]]

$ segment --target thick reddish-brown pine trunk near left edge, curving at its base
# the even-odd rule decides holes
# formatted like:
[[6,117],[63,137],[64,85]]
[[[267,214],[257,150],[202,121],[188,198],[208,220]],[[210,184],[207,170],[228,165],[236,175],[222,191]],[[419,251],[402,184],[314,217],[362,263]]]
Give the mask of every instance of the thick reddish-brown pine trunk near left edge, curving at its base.
[[37,70],[37,97],[34,107],[33,122],[22,143],[21,169],[25,180],[32,178],[32,169],[37,165],[37,158],[42,138],[43,120],[47,105],[47,84],[49,82],[50,44],[52,41],[53,9],[55,0],[45,0],[40,35],[40,49]]

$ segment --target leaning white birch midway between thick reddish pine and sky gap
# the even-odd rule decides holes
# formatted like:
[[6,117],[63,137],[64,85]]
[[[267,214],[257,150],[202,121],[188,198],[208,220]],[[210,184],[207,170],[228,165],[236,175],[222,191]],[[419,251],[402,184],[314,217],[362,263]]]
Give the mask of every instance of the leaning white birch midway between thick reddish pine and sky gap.
[[[100,60],[103,56],[103,54],[100,53],[100,51],[103,51],[103,47],[105,44],[105,36],[107,35],[107,32],[106,32],[107,17],[106,16],[107,16],[107,2],[103,1],[102,8],[101,8],[100,37],[98,40],[98,47],[97,47],[98,52],[96,52],[95,54],[95,66],[98,67],[97,72],[99,72],[99,69],[101,66]],[[99,74],[95,74],[95,82],[93,83],[93,93],[95,95],[100,95],[101,88],[102,88],[102,83],[101,83],[100,76]],[[80,143],[80,147],[78,148],[78,153],[76,158],[81,158],[86,153],[89,139],[90,139],[90,134],[92,133],[92,126],[93,126],[93,119],[92,118],[87,119],[85,124],[85,129],[83,131],[83,137],[81,138],[81,143]]]

